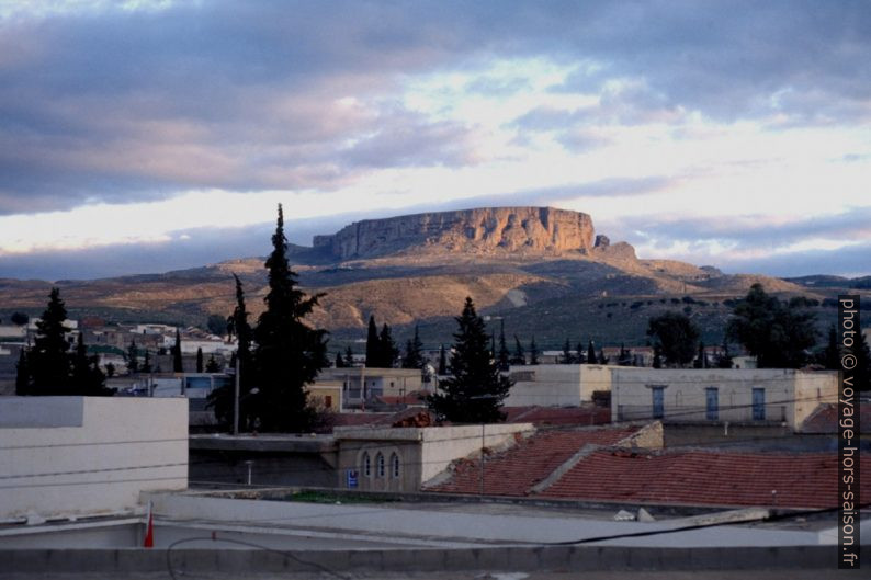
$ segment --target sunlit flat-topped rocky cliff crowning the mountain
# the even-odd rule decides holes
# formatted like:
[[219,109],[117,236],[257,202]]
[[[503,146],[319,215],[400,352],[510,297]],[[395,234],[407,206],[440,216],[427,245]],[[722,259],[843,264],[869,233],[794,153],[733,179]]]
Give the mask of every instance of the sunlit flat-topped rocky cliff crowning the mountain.
[[340,259],[371,258],[408,248],[428,252],[556,254],[592,249],[589,215],[554,207],[480,207],[366,219],[314,246]]

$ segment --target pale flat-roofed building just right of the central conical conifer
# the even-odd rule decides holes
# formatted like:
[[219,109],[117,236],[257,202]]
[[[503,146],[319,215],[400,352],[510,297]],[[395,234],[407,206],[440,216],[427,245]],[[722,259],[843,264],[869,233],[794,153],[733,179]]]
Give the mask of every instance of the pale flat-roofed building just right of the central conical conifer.
[[577,407],[592,400],[593,391],[611,389],[611,366],[595,364],[539,364],[512,366],[514,386],[507,407]]

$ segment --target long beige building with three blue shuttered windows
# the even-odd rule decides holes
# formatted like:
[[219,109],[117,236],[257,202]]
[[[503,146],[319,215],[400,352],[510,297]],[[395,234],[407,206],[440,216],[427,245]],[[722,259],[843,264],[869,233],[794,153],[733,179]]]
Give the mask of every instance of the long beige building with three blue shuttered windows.
[[795,429],[838,398],[835,372],[611,367],[611,420],[779,423]]

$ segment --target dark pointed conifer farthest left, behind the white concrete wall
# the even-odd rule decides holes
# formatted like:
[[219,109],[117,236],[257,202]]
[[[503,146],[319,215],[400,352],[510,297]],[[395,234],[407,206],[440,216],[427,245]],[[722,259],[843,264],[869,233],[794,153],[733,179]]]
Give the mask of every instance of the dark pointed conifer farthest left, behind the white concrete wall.
[[71,395],[69,389],[69,342],[64,326],[67,309],[60,291],[52,288],[48,306],[36,322],[36,339],[30,352],[29,368],[33,377],[34,395]]

